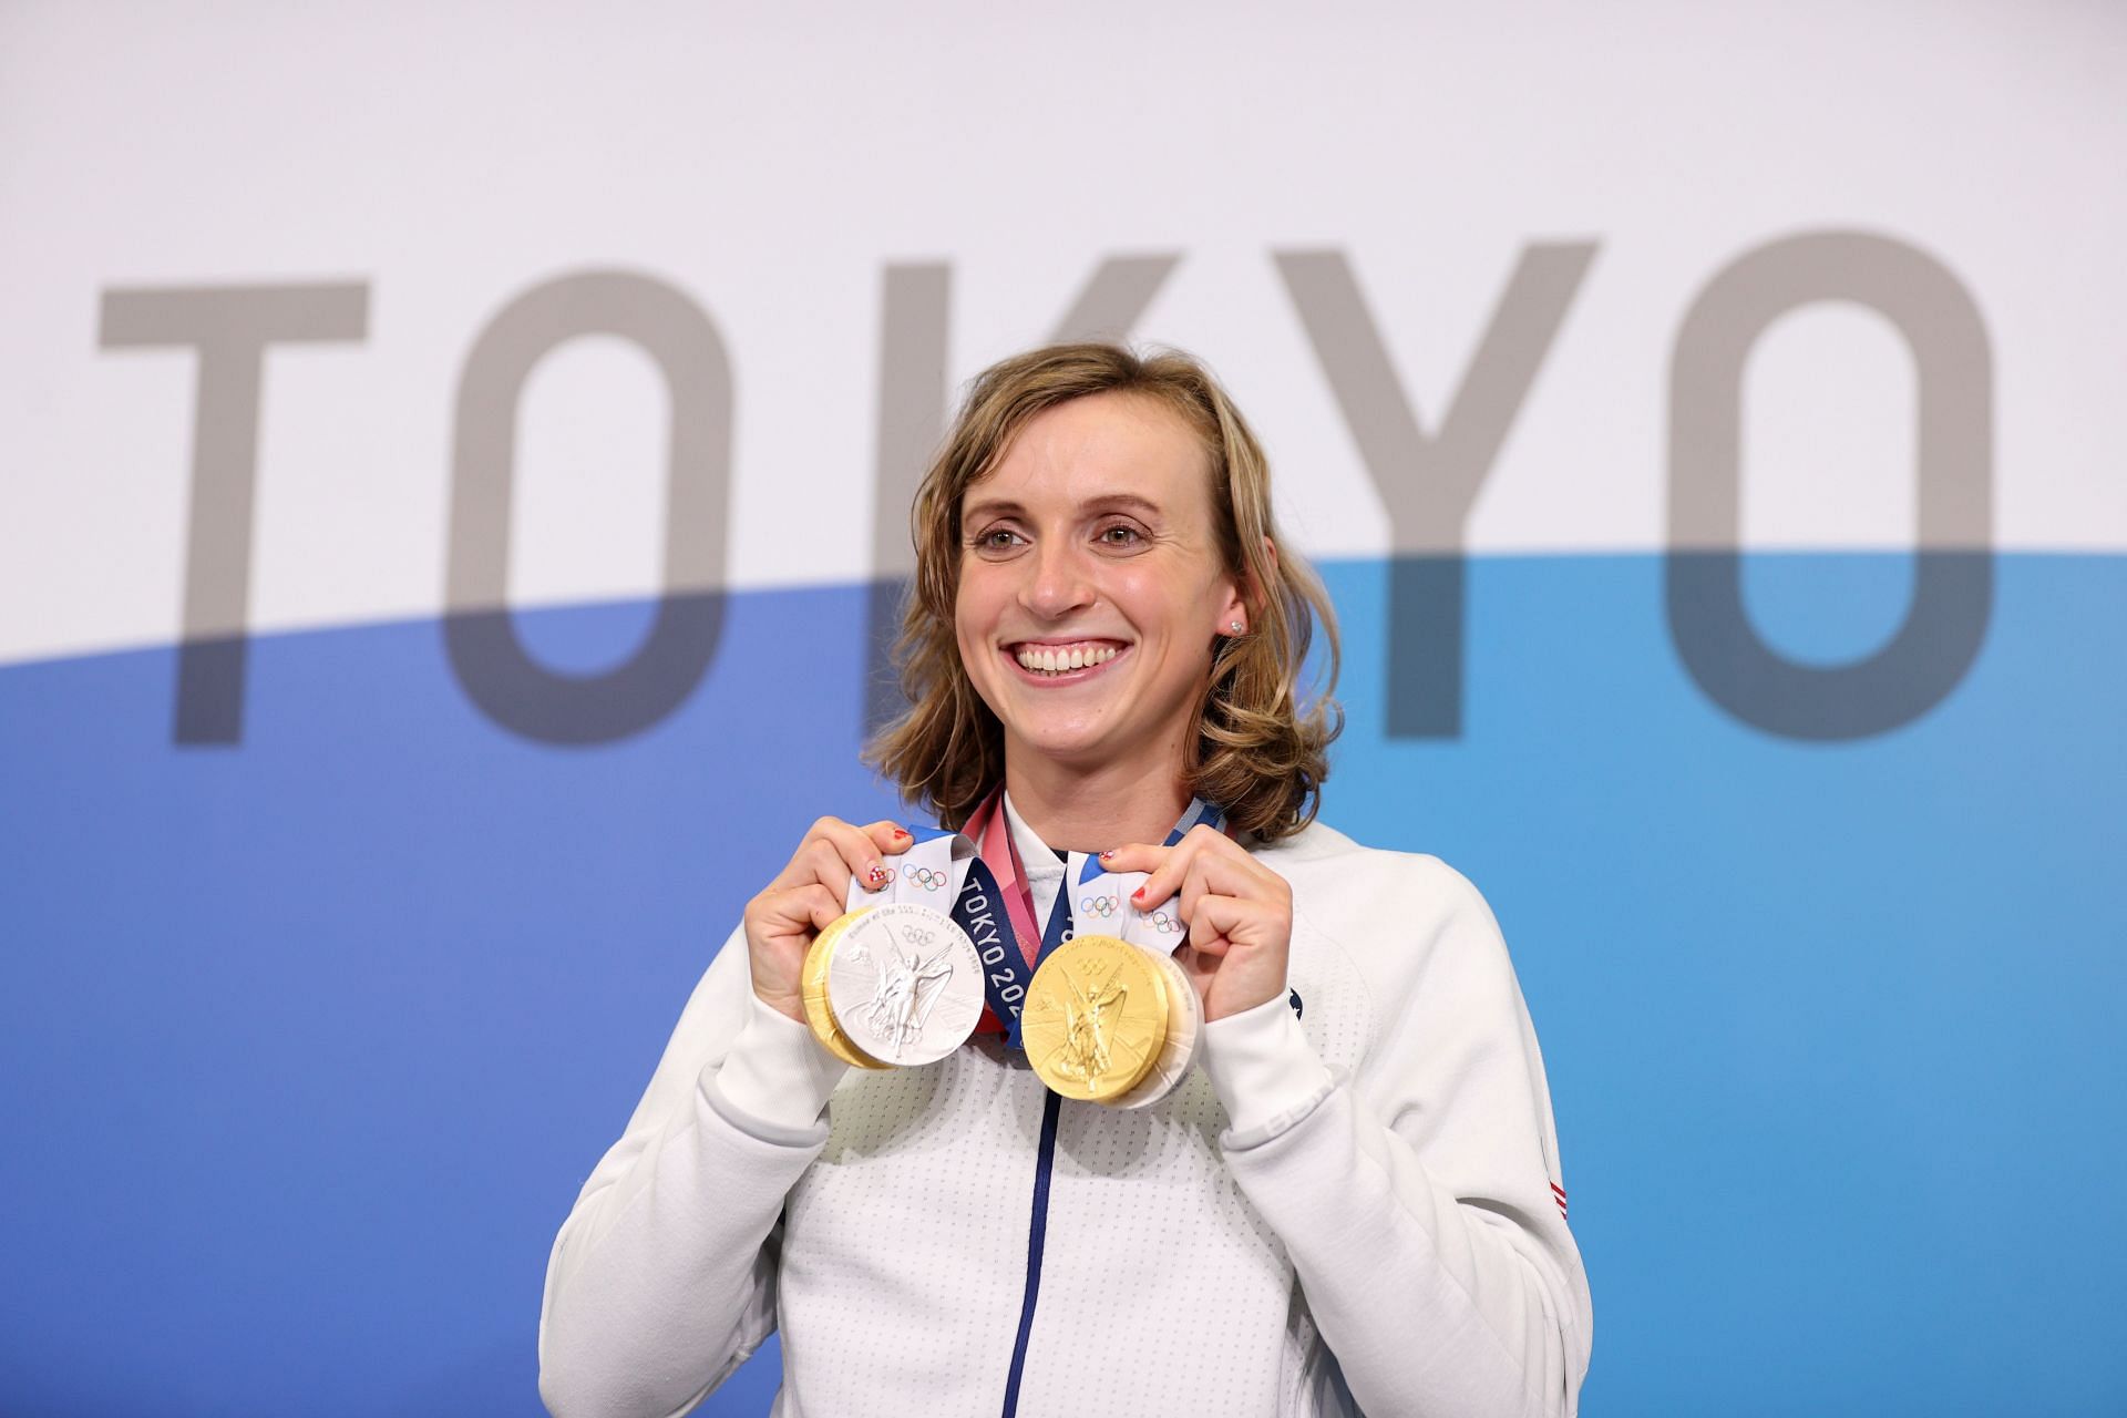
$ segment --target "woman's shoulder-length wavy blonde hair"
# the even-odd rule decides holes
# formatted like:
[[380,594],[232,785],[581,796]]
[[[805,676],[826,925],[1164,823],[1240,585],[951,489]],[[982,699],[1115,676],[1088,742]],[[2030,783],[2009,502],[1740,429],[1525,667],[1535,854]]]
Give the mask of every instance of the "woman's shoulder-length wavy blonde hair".
[[[1340,659],[1336,612],[1308,563],[1278,540],[1270,463],[1255,434],[1210,370],[1178,351],[1053,344],[1004,359],[970,385],[908,512],[917,576],[902,602],[893,661],[910,708],[864,757],[900,784],[906,801],[955,829],[1004,778],[1004,727],[974,691],[953,636],[959,508],[1029,419],[1093,393],[1153,400],[1180,415],[1204,444],[1219,551],[1255,629],[1212,642],[1183,787],[1223,806],[1236,829],[1266,842],[1287,838],[1314,821],[1329,742],[1344,727],[1329,697]],[[1327,668],[1302,702],[1300,676],[1317,627]]]

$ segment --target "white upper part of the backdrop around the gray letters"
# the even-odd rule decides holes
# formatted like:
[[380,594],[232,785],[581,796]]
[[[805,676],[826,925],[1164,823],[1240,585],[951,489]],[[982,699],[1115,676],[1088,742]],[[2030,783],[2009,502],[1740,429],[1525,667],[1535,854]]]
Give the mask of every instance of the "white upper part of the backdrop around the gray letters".
[[[1431,429],[1523,249],[1589,242],[1468,546],[1653,551],[1685,310],[1816,230],[1908,242],[1972,291],[1999,372],[1995,544],[2127,548],[2127,21],[2104,4],[13,4],[0,23],[0,659],[177,629],[194,370],[100,349],[100,293],[125,287],[368,291],[364,338],[268,357],[259,629],[440,608],[468,349],[587,268],[668,281],[723,336],[736,587],[872,574],[893,261],[951,266],[957,383],[1044,338],[1104,257],[1178,257],[1134,334],[1215,361],[1287,468],[1297,538],[1344,557],[1385,553],[1389,527],[1272,253],[1349,255]],[[661,400],[617,340],[540,366],[519,606],[657,587]],[[1746,544],[1910,546],[1910,400],[1880,317],[1780,321],[1751,364]]]

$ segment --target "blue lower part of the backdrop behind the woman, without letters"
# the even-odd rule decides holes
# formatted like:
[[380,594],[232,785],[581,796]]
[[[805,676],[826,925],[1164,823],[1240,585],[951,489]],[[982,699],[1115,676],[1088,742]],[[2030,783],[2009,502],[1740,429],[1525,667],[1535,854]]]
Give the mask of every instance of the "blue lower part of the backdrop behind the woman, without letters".
[[[1595,1288],[1587,1414],[2110,1412],[2127,1392],[2127,559],[2004,557],[1880,738],[1697,693],[1651,557],[1472,563],[1463,736],[1383,736],[1378,563],[1327,568],[1325,818],[1493,901]],[[1902,557],[1757,557],[1763,634],[1895,625]],[[553,663],[640,606],[521,617]],[[510,738],[434,623],[0,670],[0,1407],[536,1414],[553,1229],[689,986],[855,765],[855,587],[736,595],[623,744]],[[772,1354],[766,1356],[772,1361]],[[761,1414],[755,1361],[704,1412]]]

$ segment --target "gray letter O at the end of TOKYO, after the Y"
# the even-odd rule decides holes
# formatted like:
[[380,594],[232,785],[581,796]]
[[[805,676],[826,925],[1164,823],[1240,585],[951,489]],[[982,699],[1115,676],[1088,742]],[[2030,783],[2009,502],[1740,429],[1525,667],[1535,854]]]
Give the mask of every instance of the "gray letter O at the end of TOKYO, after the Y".
[[[1906,338],[1914,364],[1919,546],[1897,634],[1865,659],[1778,655],[1742,604],[1742,381],[1789,310],[1850,300]],[[1859,232],[1757,247],[1685,315],[1670,366],[1670,636],[1714,704],[1770,733],[1846,740],[1910,723],[1972,668],[1993,612],[1993,361],[1970,291],[1940,261]]]

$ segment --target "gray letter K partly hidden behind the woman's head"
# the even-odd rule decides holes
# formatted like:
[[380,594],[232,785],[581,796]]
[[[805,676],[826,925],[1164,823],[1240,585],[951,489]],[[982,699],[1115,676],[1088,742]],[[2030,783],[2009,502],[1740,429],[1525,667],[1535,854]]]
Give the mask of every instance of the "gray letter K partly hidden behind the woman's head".
[[[1051,342],[1121,340],[1166,285],[1178,255],[1117,255],[1078,289]],[[953,270],[942,261],[887,266],[878,332],[878,466],[872,500],[872,585],[866,597],[864,727],[908,704],[893,676],[902,600],[915,574],[908,508],[944,438],[947,323]]]

